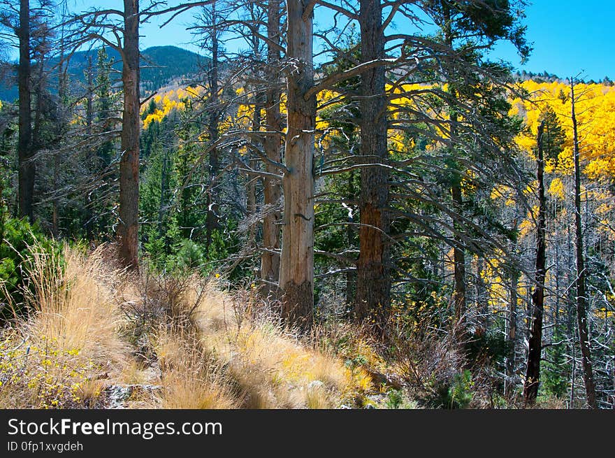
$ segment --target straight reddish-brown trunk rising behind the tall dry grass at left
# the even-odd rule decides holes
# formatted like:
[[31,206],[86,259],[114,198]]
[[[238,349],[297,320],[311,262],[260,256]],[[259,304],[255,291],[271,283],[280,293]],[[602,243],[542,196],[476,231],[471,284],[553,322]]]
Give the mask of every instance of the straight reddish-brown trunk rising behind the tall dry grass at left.
[[139,231],[139,2],[124,0],[122,159],[120,160],[120,262],[138,269]]

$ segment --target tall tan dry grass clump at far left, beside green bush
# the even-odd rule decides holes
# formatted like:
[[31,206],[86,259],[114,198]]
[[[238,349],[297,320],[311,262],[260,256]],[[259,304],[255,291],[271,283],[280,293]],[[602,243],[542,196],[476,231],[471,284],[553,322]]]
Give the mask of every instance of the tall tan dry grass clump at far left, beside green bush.
[[116,332],[120,273],[106,268],[101,250],[86,258],[65,248],[59,257],[33,247],[31,256],[30,316],[1,339],[0,407],[99,406],[101,380],[117,375],[128,357]]

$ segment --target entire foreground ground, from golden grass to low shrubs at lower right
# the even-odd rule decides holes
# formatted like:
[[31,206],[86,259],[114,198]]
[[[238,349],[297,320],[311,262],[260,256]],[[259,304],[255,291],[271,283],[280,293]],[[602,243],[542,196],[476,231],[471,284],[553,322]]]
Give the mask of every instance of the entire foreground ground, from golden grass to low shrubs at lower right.
[[33,248],[8,304],[29,313],[0,329],[0,408],[522,407],[494,395],[489,364],[467,370],[450,330],[402,320],[385,344],[328,319],[302,335],[255,285],[113,259],[106,245]]

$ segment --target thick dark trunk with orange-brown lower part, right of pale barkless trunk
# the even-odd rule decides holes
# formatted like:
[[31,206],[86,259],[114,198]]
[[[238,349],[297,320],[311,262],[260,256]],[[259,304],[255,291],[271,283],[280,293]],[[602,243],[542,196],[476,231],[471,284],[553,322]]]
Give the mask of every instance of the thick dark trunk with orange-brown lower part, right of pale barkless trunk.
[[[382,4],[379,0],[361,0],[361,62],[384,56]],[[386,163],[385,69],[377,66],[361,73],[361,145],[362,164]],[[356,265],[356,320],[368,317],[384,330],[391,301],[389,236],[389,172],[384,167],[361,169],[359,213],[359,260]]]

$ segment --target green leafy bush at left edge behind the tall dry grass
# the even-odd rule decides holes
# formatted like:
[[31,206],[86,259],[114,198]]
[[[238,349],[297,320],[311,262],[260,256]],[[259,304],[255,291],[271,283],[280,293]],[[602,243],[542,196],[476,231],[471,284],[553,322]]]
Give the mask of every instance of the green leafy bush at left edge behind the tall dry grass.
[[[23,288],[29,287],[27,272],[31,265],[31,248],[59,256],[59,246],[43,235],[38,224],[27,220],[4,218],[0,220],[0,319],[22,315],[25,310]],[[8,306],[8,303],[11,306]]]

